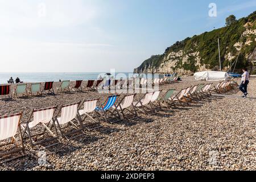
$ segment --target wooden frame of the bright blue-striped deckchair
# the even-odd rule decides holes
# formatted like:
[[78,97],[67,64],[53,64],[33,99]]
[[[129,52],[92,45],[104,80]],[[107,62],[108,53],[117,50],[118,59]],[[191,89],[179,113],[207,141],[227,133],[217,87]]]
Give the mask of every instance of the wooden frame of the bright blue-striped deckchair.
[[[107,103],[109,98],[112,98],[112,97],[119,97],[119,95],[116,95],[116,96],[109,96],[105,102],[103,103]],[[103,118],[106,122],[109,122],[111,124],[114,124],[114,123],[117,123],[117,122],[120,122],[122,121],[122,118],[121,118],[121,115],[119,114],[119,111],[117,109],[117,106],[115,105],[115,103],[117,102],[117,100],[114,102],[113,106],[114,107],[110,107],[109,109],[107,110],[104,110],[104,107],[105,105],[104,104],[101,104],[100,105],[100,110],[97,110],[96,109],[96,113],[98,115],[98,118],[101,119]],[[110,115],[110,116],[109,116]],[[117,119],[117,120],[115,120]]]

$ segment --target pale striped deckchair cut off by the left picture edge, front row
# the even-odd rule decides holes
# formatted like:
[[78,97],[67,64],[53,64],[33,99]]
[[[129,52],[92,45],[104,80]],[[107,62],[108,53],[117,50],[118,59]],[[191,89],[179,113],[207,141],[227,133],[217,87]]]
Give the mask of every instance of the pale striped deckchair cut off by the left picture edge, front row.
[[[21,117],[22,112],[0,116],[0,148],[3,147],[3,150],[0,150],[0,162],[2,163],[10,162],[11,160],[24,156],[24,144],[20,130]],[[18,131],[20,142],[16,138]],[[10,142],[8,140],[9,138],[11,138]],[[7,146],[9,146],[8,149],[6,148]]]

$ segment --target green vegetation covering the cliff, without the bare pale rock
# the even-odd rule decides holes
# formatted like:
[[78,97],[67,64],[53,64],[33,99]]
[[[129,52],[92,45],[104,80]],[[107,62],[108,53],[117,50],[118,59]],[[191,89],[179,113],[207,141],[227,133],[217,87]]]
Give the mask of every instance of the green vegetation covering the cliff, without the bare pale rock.
[[[231,16],[230,16],[231,17]],[[233,17],[233,16],[232,16]],[[250,62],[246,59],[256,47],[255,34],[248,34],[242,36],[243,32],[246,31],[246,26],[249,26],[250,30],[256,29],[256,11],[250,14],[246,18],[235,20],[229,20],[226,24],[228,26],[213,30],[210,32],[204,32],[201,35],[195,35],[192,38],[186,38],[183,41],[176,42],[171,47],[168,47],[163,55],[151,56],[142,63],[142,65],[135,70],[135,72],[156,72],[160,69],[160,65],[164,63],[166,57],[172,52],[182,51],[183,55],[189,55],[189,53],[199,52],[200,64],[205,65],[207,69],[214,69],[219,65],[218,58],[218,43],[217,39],[220,39],[220,52],[221,52],[221,63],[222,68],[230,65],[230,60],[226,60],[225,56],[232,52],[235,56],[232,60],[236,61],[238,56],[237,47],[234,47],[236,43],[242,43],[240,56],[238,57],[237,69],[242,67],[249,67]],[[250,44],[246,44],[248,40],[251,40]],[[174,70],[177,68],[183,68],[188,71],[196,72],[199,66],[196,64],[195,57],[188,56],[187,63],[182,61],[182,57],[178,58],[179,61],[176,63]]]

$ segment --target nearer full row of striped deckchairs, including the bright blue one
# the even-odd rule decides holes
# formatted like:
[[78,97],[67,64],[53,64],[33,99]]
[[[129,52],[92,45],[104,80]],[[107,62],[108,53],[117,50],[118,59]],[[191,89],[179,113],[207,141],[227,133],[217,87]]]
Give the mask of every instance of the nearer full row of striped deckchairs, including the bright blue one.
[[[212,96],[212,92],[229,92],[235,88],[232,81],[220,82],[216,86],[213,84],[199,84],[181,89],[175,93],[175,89],[170,89],[161,95],[163,91],[146,93],[143,98],[134,101],[136,94],[128,94],[118,101],[118,95],[109,96],[104,104],[98,105],[99,99],[83,100],[75,104],[48,107],[44,109],[33,109],[30,117],[24,124],[20,123],[22,112],[0,117],[0,141],[11,138],[10,143],[16,148],[11,151],[0,153],[0,158],[4,158],[16,152],[20,154],[14,158],[6,158],[9,161],[24,155],[24,140],[28,140],[32,147],[39,145],[51,147],[61,143],[60,137],[70,139],[88,131],[101,127],[101,122],[115,123],[122,120],[130,120],[138,117],[138,113],[155,114],[158,109],[170,109],[171,106],[187,105],[194,101]],[[39,129],[41,131],[39,132]],[[68,131],[67,131],[68,130]],[[20,142],[15,137],[19,132]],[[72,138],[75,138],[72,137]]]

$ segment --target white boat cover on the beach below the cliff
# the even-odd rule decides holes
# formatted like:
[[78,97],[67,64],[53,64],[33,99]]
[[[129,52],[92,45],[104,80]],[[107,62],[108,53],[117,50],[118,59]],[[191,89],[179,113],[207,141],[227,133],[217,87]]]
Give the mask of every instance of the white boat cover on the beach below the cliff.
[[194,77],[196,80],[227,81],[229,79],[229,74],[227,72],[205,71],[195,73]]

